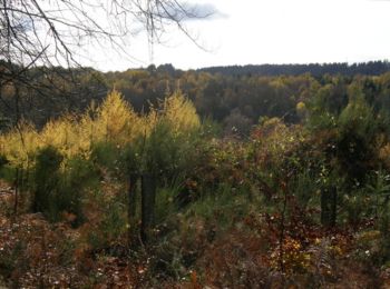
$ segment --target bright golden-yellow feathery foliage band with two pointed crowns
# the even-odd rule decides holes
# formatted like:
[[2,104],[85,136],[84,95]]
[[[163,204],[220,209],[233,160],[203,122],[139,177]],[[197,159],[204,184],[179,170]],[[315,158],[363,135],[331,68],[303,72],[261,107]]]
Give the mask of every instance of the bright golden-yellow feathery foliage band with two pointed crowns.
[[94,142],[131,143],[139,136],[149,136],[159,121],[168,121],[175,133],[199,127],[195,107],[181,92],[166,98],[159,108],[138,114],[123,96],[114,90],[101,106],[82,116],[67,114],[49,121],[41,131],[27,122],[0,136],[0,153],[14,166],[27,167],[35,152],[45,146],[57,148],[65,157],[88,158]]

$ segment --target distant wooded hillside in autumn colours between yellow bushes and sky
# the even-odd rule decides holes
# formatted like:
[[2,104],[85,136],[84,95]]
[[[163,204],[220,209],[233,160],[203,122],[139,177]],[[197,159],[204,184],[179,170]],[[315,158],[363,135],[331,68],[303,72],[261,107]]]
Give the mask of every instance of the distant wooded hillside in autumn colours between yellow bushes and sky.
[[29,81],[11,81],[0,88],[0,129],[3,123],[9,127],[22,119],[42,127],[65,112],[84,112],[91,103],[99,104],[113,89],[120,91],[139,113],[181,90],[202,118],[221,123],[227,133],[237,130],[245,134],[264,117],[277,117],[287,123],[301,121],[296,106],[309,103],[319,94],[326,106],[340,110],[352,97],[348,92],[352,84],[359,87],[370,104],[382,107],[378,103],[390,97],[389,71],[386,61],[188,71],[163,64],[106,73],[94,69],[35,68],[26,72]]

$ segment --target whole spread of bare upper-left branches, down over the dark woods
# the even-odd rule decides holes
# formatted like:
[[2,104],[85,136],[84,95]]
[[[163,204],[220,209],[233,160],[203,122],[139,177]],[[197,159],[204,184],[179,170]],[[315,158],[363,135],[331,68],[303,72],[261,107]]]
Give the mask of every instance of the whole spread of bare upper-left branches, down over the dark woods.
[[55,102],[59,94],[71,103],[77,99],[72,91],[80,91],[78,59],[86,57],[81,49],[87,43],[109,44],[135,60],[128,46],[146,31],[153,59],[154,44],[173,26],[203,49],[184,22],[212,13],[178,0],[0,0],[0,108],[20,120],[19,106],[33,96]]

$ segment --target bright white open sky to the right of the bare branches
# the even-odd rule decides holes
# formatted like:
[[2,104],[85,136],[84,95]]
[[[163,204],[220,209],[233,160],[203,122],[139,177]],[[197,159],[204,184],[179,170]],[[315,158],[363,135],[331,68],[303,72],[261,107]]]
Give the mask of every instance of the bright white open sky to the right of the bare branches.
[[[194,2],[194,1],[193,1]],[[149,48],[145,33],[126,48],[90,51],[103,71],[172,63],[212,66],[362,62],[390,59],[390,0],[197,0],[216,12],[186,21],[194,44],[174,28]]]

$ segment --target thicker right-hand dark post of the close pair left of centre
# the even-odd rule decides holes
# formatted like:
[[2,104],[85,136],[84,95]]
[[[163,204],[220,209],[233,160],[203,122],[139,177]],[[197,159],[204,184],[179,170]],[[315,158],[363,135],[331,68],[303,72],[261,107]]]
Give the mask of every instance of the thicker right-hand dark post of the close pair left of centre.
[[142,177],[142,223],[140,238],[145,243],[149,237],[149,230],[154,222],[154,207],[156,199],[156,178],[152,173]]

